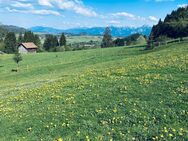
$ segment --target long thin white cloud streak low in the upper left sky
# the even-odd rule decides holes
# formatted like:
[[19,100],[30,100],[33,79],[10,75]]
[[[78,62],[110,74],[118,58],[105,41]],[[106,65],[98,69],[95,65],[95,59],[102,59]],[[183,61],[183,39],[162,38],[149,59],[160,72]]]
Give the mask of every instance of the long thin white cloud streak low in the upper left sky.
[[53,10],[18,10],[18,9],[11,9],[9,7],[6,7],[6,9],[9,12],[13,12],[13,13],[30,13],[30,14],[37,14],[37,15],[56,15],[56,16],[60,16],[61,14],[57,11],[53,11]]

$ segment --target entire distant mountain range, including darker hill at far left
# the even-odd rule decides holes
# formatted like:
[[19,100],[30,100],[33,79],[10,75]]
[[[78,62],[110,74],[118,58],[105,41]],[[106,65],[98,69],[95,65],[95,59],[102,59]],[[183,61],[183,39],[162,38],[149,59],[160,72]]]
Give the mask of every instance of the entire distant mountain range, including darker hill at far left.
[[[30,30],[35,33],[40,34],[61,34],[62,32],[70,35],[90,35],[90,36],[101,36],[104,33],[105,27],[80,27],[80,28],[71,28],[71,29],[57,29],[52,27],[44,26],[35,26],[28,29],[13,26],[13,25],[4,25],[0,23],[0,29],[7,32],[14,33],[24,33],[26,30]],[[111,34],[115,37],[125,37],[131,34],[139,33],[146,36],[149,36],[152,27],[150,26],[141,26],[141,27],[114,27],[111,26]]]

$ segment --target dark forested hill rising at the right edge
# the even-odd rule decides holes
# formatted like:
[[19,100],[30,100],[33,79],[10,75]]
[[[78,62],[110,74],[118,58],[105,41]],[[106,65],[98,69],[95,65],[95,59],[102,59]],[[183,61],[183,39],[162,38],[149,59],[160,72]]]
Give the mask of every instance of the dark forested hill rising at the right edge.
[[188,7],[178,8],[167,15],[164,21],[153,26],[150,38],[179,38],[188,36]]

